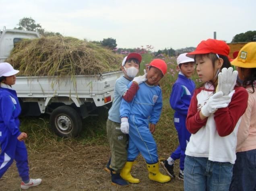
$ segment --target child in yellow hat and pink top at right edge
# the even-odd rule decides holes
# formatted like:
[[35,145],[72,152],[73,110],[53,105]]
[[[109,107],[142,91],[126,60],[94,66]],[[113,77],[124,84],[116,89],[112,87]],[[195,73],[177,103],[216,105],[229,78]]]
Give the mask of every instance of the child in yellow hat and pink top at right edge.
[[249,98],[237,132],[237,153],[229,190],[256,190],[256,42],[244,45],[231,64],[236,66]]

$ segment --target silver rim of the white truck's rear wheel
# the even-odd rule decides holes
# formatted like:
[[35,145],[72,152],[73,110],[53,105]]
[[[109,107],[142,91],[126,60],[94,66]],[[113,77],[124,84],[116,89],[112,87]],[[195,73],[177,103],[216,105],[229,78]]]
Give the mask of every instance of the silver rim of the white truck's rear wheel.
[[66,115],[59,115],[56,117],[56,127],[58,131],[64,134],[69,134],[72,131],[73,125],[72,121]]

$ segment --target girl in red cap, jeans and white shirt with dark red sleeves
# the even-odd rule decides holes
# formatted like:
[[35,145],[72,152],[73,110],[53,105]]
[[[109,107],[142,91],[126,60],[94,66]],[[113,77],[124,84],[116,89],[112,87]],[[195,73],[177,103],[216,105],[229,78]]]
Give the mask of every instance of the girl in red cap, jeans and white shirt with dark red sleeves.
[[224,41],[208,39],[187,55],[195,59],[204,84],[195,90],[186,120],[192,135],[185,152],[185,191],[227,191],[231,183],[237,130],[248,93],[235,86],[237,71],[233,72],[228,54]]

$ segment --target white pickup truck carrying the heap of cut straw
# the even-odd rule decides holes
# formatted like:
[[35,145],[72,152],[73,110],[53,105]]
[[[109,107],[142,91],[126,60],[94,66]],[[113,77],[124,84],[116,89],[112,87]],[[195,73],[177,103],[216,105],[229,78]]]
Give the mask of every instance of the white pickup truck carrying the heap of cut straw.
[[[21,39],[39,38],[34,31],[5,29],[0,31],[0,62],[10,55]],[[122,71],[96,75],[78,75],[75,80],[58,76],[18,76],[13,85],[17,91],[22,115],[50,114],[50,125],[58,136],[77,136],[82,119],[98,107],[109,107],[114,97],[116,79]],[[73,76],[74,78],[74,76]]]

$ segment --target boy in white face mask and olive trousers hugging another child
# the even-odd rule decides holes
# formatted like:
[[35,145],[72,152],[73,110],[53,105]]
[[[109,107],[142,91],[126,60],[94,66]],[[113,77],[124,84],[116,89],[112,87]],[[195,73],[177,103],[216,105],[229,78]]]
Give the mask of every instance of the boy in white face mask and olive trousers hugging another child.
[[[111,172],[112,185],[128,186],[128,182],[120,176],[120,172],[127,160],[128,136],[120,130],[121,120],[119,109],[122,99],[127,102],[132,101],[139,89],[138,84],[147,80],[146,74],[135,77],[139,72],[141,60],[141,55],[138,53],[130,53],[126,56],[121,66],[124,76],[116,80],[114,87],[114,101],[112,107],[109,109],[107,119],[107,137],[111,151],[111,158],[107,164],[107,169]],[[133,83],[128,89],[130,81],[133,81]]]

